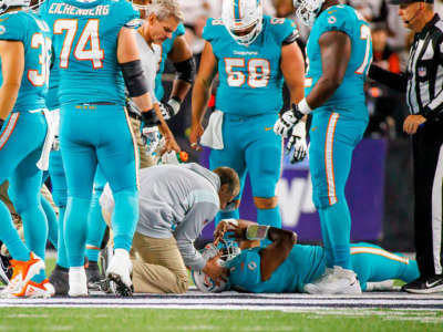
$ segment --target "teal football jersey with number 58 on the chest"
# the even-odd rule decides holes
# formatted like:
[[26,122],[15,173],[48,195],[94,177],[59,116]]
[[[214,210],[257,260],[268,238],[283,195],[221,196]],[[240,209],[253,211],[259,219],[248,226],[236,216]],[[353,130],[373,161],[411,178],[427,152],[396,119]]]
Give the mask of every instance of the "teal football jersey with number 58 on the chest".
[[208,19],[203,38],[218,61],[216,108],[243,116],[277,113],[282,107],[281,46],[296,30],[287,19],[264,17],[262,31],[248,46],[238,44],[222,20]]

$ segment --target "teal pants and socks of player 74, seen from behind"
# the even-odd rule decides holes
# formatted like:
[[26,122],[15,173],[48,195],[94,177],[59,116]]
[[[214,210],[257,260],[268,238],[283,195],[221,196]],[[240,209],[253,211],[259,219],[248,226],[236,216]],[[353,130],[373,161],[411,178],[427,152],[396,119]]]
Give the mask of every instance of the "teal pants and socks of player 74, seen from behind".
[[130,250],[138,219],[138,155],[123,106],[63,105],[60,147],[68,185],[64,236],[70,267],[83,266],[97,165],[115,198],[115,248]]

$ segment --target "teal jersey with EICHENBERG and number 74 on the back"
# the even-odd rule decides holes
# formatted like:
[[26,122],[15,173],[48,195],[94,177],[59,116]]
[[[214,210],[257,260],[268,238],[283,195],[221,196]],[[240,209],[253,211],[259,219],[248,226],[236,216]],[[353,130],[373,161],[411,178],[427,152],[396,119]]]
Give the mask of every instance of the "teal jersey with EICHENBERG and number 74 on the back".
[[44,13],[52,27],[60,70],[60,104],[110,102],[124,105],[117,35],[137,28],[140,13],[126,0],[51,1]]

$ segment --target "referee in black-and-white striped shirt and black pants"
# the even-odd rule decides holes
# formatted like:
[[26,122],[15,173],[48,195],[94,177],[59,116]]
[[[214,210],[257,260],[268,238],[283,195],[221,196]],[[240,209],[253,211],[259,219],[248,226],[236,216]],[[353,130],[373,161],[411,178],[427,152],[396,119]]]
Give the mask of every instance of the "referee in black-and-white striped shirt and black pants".
[[412,293],[443,291],[443,21],[433,0],[391,0],[414,34],[405,74],[371,65],[369,76],[406,93],[414,162],[415,251],[421,277],[405,286]]

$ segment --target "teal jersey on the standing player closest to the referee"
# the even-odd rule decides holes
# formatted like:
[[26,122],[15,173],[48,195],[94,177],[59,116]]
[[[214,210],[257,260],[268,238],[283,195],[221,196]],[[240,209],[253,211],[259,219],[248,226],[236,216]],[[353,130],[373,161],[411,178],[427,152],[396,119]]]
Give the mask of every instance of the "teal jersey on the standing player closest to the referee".
[[353,118],[368,118],[363,84],[372,61],[371,30],[368,22],[351,7],[339,4],[322,11],[316,19],[307,43],[309,68],[306,74],[308,95],[322,75],[320,37],[329,31],[341,31],[351,40],[351,56],[341,85],[321,106]]

